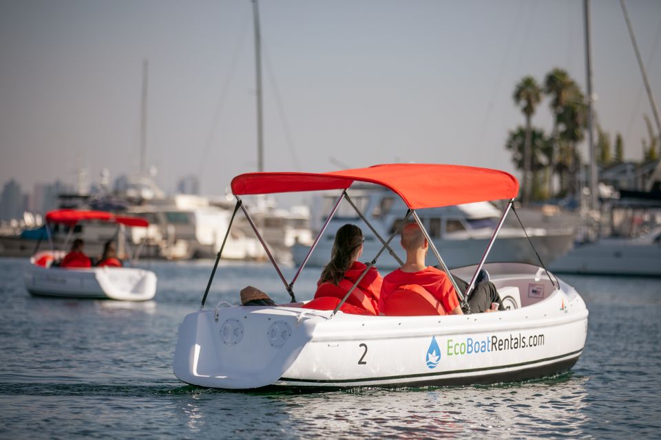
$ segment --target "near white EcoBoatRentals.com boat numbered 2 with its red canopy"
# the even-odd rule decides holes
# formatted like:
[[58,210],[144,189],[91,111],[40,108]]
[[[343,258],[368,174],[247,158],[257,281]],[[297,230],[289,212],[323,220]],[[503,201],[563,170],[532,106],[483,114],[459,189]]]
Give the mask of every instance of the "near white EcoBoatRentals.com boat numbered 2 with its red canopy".
[[[202,308],[186,316],[179,329],[174,373],[180,380],[229,389],[436,386],[529,380],[571,369],[583,352],[588,315],[574,288],[543,267],[484,265],[518,192],[518,182],[511,175],[484,168],[397,164],[316,175],[252,173],[235,177],[232,188],[236,196],[339,188],[343,190],[339,205],[342,199],[352,203],[346,188],[353,181],[381,184],[395,191],[410,208],[406,217],[412,215],[418,223],[415,210],[419,208],[510,199],[480,263],[449,272],[452,277],[470,279],[470,289],[485,267],[509,309],[463,316],[358,316],[337,309],[292,307],[300,303],[219,305],[205,310],[207,286]],[[240,199],[235,212],[239,207],[251,221]],[[398,232],[384,241],[384,248]],[[437,250],[432,250],[448,272]],[[221,253],[222,248],[219,258]],[[287,283],[275,264],[292,297],[293,283],[303,265]]]

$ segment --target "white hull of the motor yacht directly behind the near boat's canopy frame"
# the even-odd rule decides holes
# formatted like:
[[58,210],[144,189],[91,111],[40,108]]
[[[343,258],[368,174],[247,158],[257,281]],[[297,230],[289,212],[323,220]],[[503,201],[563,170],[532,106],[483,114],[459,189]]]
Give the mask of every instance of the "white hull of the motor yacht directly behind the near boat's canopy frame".
[[[485,236],[482,239],[438,239],[434,241],[434,244],[443,255],[448,267],[463,267],[473,265],[481,259],[489,239],[490,236]],[[558,256],[571,249],[574,243],[574,234],[567,231],[553,235],[531,236],[530,239],[542,261],[547,263],[554,261]],[[381,242],[379,241],[366,240],[363,245],[364,250],[361,258],[366,261],[372,259],[381,249]],[[330,260],[330,250],[332,248],[332,240],[320,241],[315,252],[310,256],[307,265],[313,267],[326,265]],[[390,243],[390,248],[397,253],[402,261],[406,260],[406,254],[401,249],[397,239]],[[309,250],[309,246],[296,244],[291,249],[294,263],[300,265]],[[496,240],[488,261],[522,261],[538,264],[537,257],[525,236],[506,236],[505,234],[501,234]],[[394,268],[399,267],[399,263],[386,250],[379,256],[377,267]]]

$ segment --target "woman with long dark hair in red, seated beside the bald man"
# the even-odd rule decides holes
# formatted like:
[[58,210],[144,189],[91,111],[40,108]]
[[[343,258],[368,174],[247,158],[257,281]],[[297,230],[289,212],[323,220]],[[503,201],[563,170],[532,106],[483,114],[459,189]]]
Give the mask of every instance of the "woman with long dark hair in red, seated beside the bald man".
[[[346,293],[358,281],[367,266],[357,261],[363,253],[363,232],[347,223],[337,230],[330,262],[317,281],[315,299],[304,305],[307,309],[335,309]],[[383,278],[376,267],[370,267],[340,310],[348,314],[379,314],[379,294]]]

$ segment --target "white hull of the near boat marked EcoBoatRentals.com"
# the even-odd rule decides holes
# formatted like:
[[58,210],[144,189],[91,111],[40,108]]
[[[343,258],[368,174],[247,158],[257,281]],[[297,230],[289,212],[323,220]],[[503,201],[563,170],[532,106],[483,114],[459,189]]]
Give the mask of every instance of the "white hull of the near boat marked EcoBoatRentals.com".
[[[473,268],[457,270],[462,278]],[[518,309],[469,316],[355,316],[295,307],[189,314],[174,373],[213,388],[427,386],[527,380],[567,371],[583,351],[587,309],[543,270],[487,265]]]

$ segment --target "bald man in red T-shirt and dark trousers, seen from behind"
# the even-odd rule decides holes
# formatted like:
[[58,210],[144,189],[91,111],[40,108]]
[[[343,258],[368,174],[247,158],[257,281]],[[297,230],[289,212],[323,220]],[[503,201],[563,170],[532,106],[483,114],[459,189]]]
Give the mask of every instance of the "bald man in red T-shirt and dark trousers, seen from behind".
[[[379,310],[385,309],[388,296],[400,286],[419,285],[440,301],[445,314],[463,315],[457,292],[448,275],[436,267],[425,264],[429,243],[417,223],[409,223],[403,228],[400,243],[406,251],[406,263],[384,277]],[[459,278],[455,278],[455,281],[465,292],[468,283]],[[496,287],[489,281],[477,283],[468,297],[470,312],[493,311],[492,303],[498,303],[499,310],[504,310]]]

